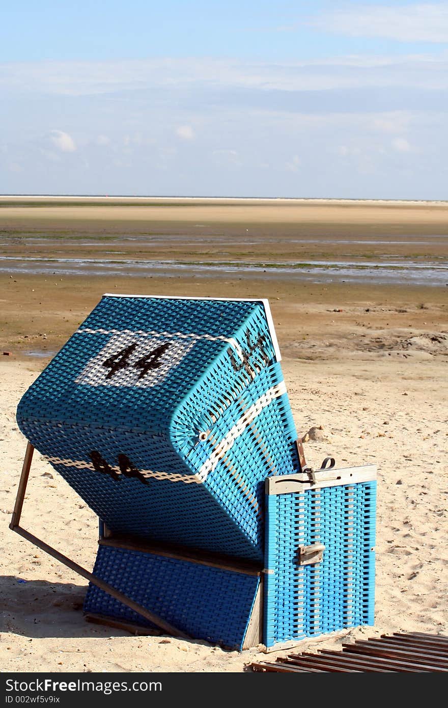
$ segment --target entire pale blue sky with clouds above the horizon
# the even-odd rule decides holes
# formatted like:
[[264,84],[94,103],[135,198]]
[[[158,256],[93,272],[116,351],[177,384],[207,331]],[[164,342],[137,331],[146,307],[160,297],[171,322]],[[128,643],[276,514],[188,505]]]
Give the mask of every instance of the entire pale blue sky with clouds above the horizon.
[[0,193],[446,199],[448,3],[2,8]]

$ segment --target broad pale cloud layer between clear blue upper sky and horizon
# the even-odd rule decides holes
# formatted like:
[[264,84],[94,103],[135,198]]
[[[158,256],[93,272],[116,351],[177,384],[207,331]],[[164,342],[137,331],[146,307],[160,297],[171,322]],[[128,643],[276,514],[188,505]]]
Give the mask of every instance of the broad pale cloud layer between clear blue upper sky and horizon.
[[4,64],[0,192],[445,198],[447,89],[440,47]]

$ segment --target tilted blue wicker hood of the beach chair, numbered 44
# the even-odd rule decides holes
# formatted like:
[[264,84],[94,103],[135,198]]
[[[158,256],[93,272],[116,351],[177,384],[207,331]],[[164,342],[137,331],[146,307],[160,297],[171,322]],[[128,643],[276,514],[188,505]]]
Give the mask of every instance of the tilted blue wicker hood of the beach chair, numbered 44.
[[114,532],[258,561],[263,481],[297,471],[260,302],[104,297],[17,419]]

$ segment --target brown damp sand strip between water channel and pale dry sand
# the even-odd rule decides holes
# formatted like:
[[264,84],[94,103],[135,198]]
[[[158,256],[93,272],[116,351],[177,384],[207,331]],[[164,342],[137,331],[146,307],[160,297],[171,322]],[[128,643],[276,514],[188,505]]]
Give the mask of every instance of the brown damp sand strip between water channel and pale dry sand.
[[[28,351],[55,353],[106,292],[179,297],[267,297],[284,355],[289,348],[313,355],[330,338],[341,351],[369,338],[430,336],[448,331],[448,288],[345,284],[281,279],[85,278],[0,275],[0,348],[21,358]],[[379,346],[377,346],[379,348]],[[300,350],[294,355],[300,356]]]

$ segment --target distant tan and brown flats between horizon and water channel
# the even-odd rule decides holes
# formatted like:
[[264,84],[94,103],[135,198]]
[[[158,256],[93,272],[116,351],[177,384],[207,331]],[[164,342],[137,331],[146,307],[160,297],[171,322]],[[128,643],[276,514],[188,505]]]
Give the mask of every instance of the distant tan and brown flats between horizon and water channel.
[[[143,203],[142,203],[143,202]],[[159,244],[159,251],[182,251],[193,246],[193,253],[204,249],[209,239],[208,256],[224,243],[236,255],[271,255],[280,258],[295,253],[360,253],[374,246],[372,236],[381,243],[372,253],[390,253],[387,241],[406,255],[413,253],[412,241],[421,237],[430,246],[418,253],[447,253],[448,204],[446,202],[344,202],[343,200],[140,200],[125,204],[116,199],[91,198],[57,202],[33,198],[0,197],[0,237],[27,236],[60,241],[96,234],[100,241],[110,236],[170,236]],[[176,239],[185,236],[185,242]],[[370,238],[369,238],[370,236]],[[381,239],[385,236],[385,239]],[[337,238],[336,238],[337,237]],[[317,238],[312,243],[310,239]],[[97,239],[97,240],[98,240]],[[342,239],[342,243],[338,243]],[[345,239],[350,243],[346,244]],[[357,244],[357,240],[366,244]],[[142,239],[145,241],[145,239]],[[151,239],[149,239],[151,241]],[[193,241],[193,244],[190,243]],[[333,243],[334,241],[334,243]],[[384,243],[386,241],[386,243]],[[398,241],[398,243],[396,243]],[[248,247],[246,247],[248,244]],[[7,244],[4,244],[7,245]],[[146,243],[145,243],[146,245]],[[151,246],[157,246],[157,241]],[[104,246],[100,243],[99,246]],[[129,243],[128,243],[129,246]],[[253,246],[256,246],[254,249]],[[130,247],[130,246],[129,246]],[[134,250],[139,244],[134,244]],[[254,252],[256,251],[256,252]],[[241,253],[240,253],[241,252]],[[216,253],[219,257],[220,253]],[[368,253],[367,253],[368,255]]]

